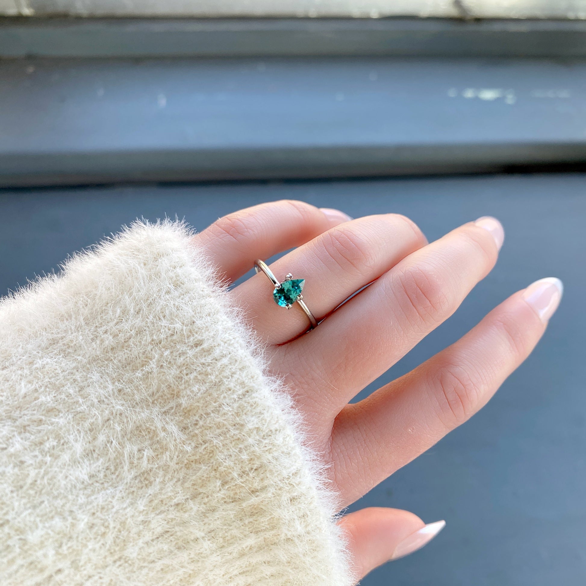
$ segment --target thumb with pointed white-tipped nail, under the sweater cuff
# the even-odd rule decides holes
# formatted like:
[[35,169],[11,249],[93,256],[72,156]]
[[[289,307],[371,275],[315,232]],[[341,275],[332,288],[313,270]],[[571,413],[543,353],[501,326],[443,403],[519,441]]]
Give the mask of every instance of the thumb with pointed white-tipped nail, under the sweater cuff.
[[356,580],[381,564],[421,549],[445,527],[445,521],[428,525],[413,513],[370,507],[342,517]]

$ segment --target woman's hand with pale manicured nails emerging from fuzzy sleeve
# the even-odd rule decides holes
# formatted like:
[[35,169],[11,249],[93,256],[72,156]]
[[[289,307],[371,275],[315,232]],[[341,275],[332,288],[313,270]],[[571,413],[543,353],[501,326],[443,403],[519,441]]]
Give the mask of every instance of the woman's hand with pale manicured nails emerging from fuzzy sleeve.
[[[278,279],[305,278],[314,331],[295,306],[272,301],[263,274],[231,291],[268,344],[304,415],[315,449],[347,506],[476,413],[529,355],[561,298],[548,278],[518,291],[472,331],[412,372],[356,404],[349,401],[458,308],[496,263],[503,229],[489,217],[427,243],[411,220],[381,214],[350,220],[337,210],[282,201],[226,216],[196,236],[233,282],[271,265]],[[359,294],[347,298],[362,289]],[[340,521],[357,573],[414,551],[443,523],[413,513],[363,509]]]

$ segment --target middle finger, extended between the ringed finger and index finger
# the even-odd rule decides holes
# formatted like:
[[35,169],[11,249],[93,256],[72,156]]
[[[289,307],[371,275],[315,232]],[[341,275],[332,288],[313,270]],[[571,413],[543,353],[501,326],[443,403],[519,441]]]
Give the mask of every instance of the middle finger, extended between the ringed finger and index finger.
[[408,255],[336,310],[312,336],[282,347],[275,367],[301,400],[335,417],[360,390],[444,322],[496,262],[504,233],[481,218]]

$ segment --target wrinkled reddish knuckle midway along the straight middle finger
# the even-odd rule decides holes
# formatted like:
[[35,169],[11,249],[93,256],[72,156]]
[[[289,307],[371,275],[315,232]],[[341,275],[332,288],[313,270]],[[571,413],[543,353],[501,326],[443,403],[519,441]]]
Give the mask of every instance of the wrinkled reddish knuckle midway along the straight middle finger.
[[452,302],[444,278],[431,267],[411,266],[400,275],[401,290],[407,316],[414,315],[415,321],[425,326],[443,321]]

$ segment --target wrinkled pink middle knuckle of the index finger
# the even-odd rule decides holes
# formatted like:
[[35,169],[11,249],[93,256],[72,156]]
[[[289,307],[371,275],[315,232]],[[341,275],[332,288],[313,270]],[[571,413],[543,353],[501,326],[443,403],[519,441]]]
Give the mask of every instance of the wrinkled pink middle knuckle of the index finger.
[[446,427],[461,425],[475,412],[478,384],[463,364],[444,364],[433,375],[430,386]]

